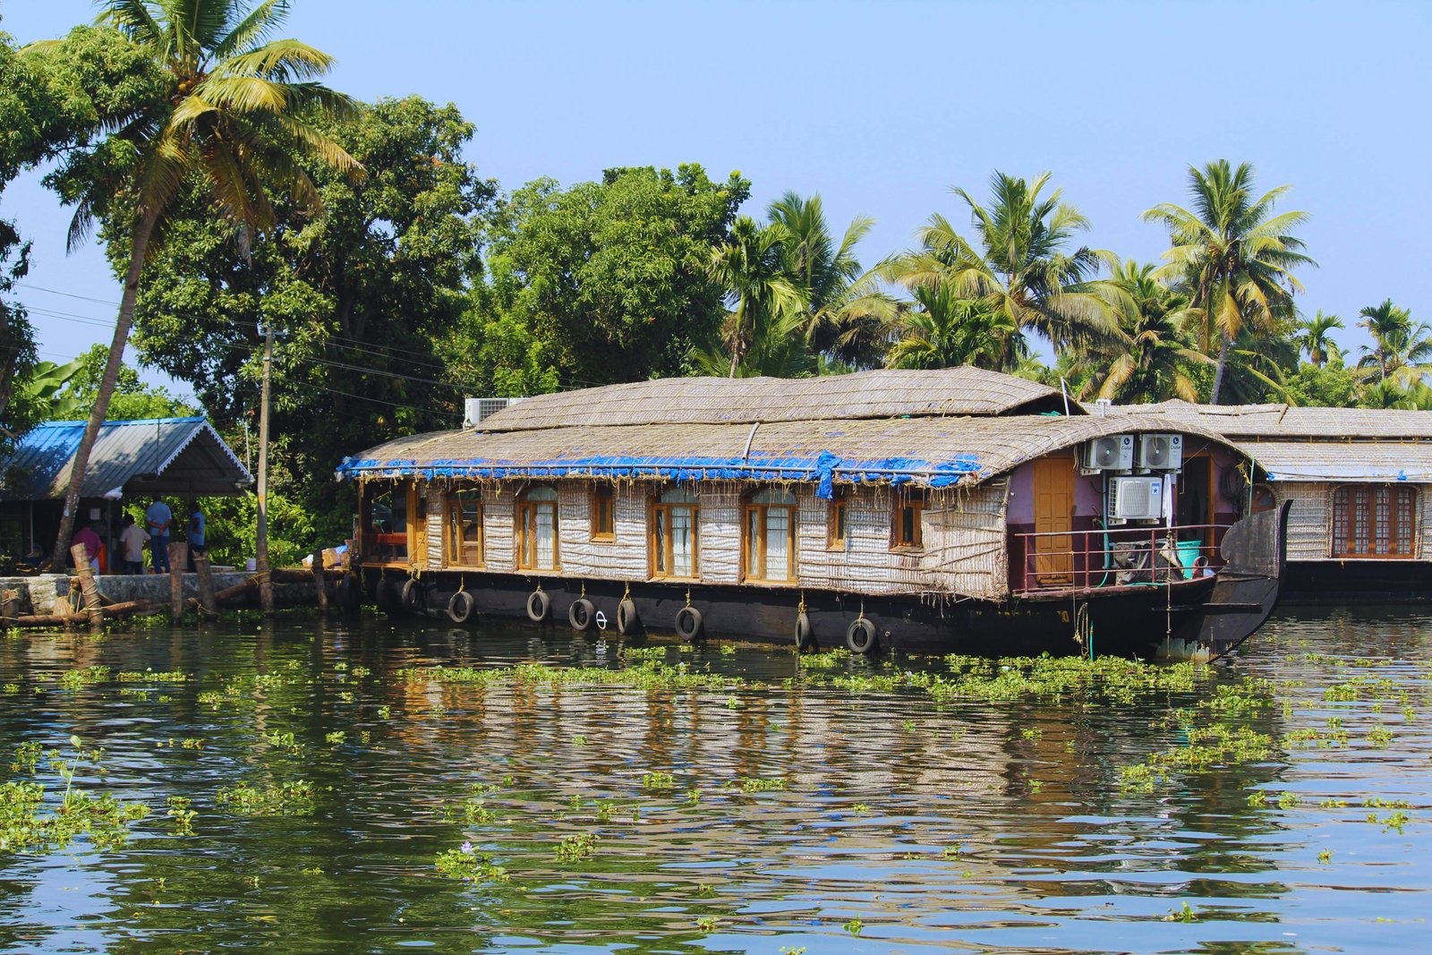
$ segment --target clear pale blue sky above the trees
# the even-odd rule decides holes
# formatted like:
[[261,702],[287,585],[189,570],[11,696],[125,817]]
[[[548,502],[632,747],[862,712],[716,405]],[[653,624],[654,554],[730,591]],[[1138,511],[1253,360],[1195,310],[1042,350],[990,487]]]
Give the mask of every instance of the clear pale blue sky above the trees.
[[[93,17],[87,0],[0,0],[19,42]],[[832,220],[875,216],[871,263],[994,169],[1053,170],[1088,242],[1156,259],[1138,213],[1184,202],[1190,163],[1250,160],[1293,192],[1320,268],[1303,308],[1356,321],[1390,296],[1432,321],[1425,182],[1432,132],[1425,3],[465,3],[294,0],[289,36],[338,59],[361,99],[454,102],[468,159],[503,188],[621,165],[739,169],[759,215],[819,192]],[[34,241],[21,289],[46,358],[109,341],[119,285],[97,246],[64,253],[69,213],[27,178],[0,199]],[[67,292],[66,298],[54,289]],[[99,299],[99,301],[87,301]],[[69,318],[44,312],[64,312]],[[84,316],[90,322],[76,321]],[[1349,345],[1360,332],[1342,334]]]

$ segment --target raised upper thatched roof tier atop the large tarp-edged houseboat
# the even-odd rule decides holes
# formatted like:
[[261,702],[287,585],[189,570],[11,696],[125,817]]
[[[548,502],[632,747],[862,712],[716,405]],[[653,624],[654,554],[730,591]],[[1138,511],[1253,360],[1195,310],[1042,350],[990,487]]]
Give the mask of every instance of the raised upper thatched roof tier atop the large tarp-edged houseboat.
[[[483,421],[481,430],[1001,415],[1064,407],[1054,388],[978,368],[819,378],[660,378],[526,398]],[[1074,402],[1070,412],[1083,414]]]

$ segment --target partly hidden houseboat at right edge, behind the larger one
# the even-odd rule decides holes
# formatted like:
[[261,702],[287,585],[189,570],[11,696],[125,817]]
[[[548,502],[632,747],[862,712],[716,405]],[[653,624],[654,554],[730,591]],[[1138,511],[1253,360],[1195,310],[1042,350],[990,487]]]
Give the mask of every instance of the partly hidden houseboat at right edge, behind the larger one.
[[1254,513],[1290,508],[1287,596],[1432,597],[1432,411],[1166,401],[1106,414],[1209,428],[1239,448],[1252,480],[1230,490]]

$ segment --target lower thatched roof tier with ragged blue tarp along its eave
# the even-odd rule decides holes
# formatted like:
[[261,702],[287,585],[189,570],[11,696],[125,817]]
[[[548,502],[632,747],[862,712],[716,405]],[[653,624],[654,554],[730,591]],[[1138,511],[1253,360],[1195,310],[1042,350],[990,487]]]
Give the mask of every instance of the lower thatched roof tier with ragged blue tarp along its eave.
[[1200,425],[1113,415],[579,425],[400,438],[345,458],[338,475],[790,480],[822,485],[909,481],[949,487],[978,484],[1090,438],[1144,431],[1180,431],[1224,444]]

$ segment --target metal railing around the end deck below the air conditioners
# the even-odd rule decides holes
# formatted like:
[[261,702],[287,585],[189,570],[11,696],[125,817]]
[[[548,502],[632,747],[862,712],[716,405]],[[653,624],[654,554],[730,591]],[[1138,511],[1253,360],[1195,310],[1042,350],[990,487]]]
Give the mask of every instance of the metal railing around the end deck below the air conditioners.
[[1017,593],[1166,584],[1217,573],[1229,524],[1094,527],[1010,535]]

